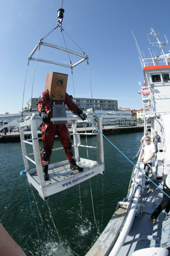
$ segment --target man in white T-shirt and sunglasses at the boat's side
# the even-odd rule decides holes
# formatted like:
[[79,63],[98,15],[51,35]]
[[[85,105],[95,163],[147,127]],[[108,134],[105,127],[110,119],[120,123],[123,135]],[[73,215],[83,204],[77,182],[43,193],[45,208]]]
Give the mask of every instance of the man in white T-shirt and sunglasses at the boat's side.
[[151,143],[151,139],[149,136],[145,138],[145,141],[146,141],[146,145],[143,148],[144,153],[141,156],[141,158],[138,160],[138,162],[141,162],[141,160],[143,160],[145,175],[149,177],[149,170],[151,169],[152,164],[154,162],[154,155],[156,152],[156,148],[155,148],[155,145]]

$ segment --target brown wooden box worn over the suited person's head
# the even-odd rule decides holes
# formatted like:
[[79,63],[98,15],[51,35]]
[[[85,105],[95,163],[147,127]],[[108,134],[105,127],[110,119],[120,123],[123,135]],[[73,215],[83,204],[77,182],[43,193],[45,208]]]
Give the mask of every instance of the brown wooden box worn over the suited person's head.
[[52,72],[46,75],[45,91],[49,91],[51,100],[64,100],[68,75]]

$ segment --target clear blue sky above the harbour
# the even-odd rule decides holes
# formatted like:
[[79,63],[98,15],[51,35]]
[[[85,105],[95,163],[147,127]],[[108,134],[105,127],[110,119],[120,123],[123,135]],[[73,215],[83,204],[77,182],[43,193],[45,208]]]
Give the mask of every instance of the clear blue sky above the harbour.
[[[27,58],[39,39],[55,28],[61,4],[62,0],[1,0],[1,114],[21,111]],[[131,30],[140,50],[150,57],[147,33],[151,27],[161,34],[160,39],[164,40],[165,34],[170,40],[169,7],[169,0],[63,0],[62,26],[89,56],[93,98],[118,100],[122,108],[142,108],[137,91],[138,82],[143,83],[143,71]],[[68,49],[80,52],[65,34],[64,37]],[[45,41],[64,47],[59,29]],[[61,53],[44,54],[61,62]],[[42,56],[40,48],[39,57]],[[35,61],[31,61],[24,107],[31,98],[34,66]],[[70,69],[38,62],[33,97],[44,91],[46,74],[50,72],[68,74],[67,93],[74,96]],[[91,97],[86,61],[74,68],[74,84],[76,97]]]

